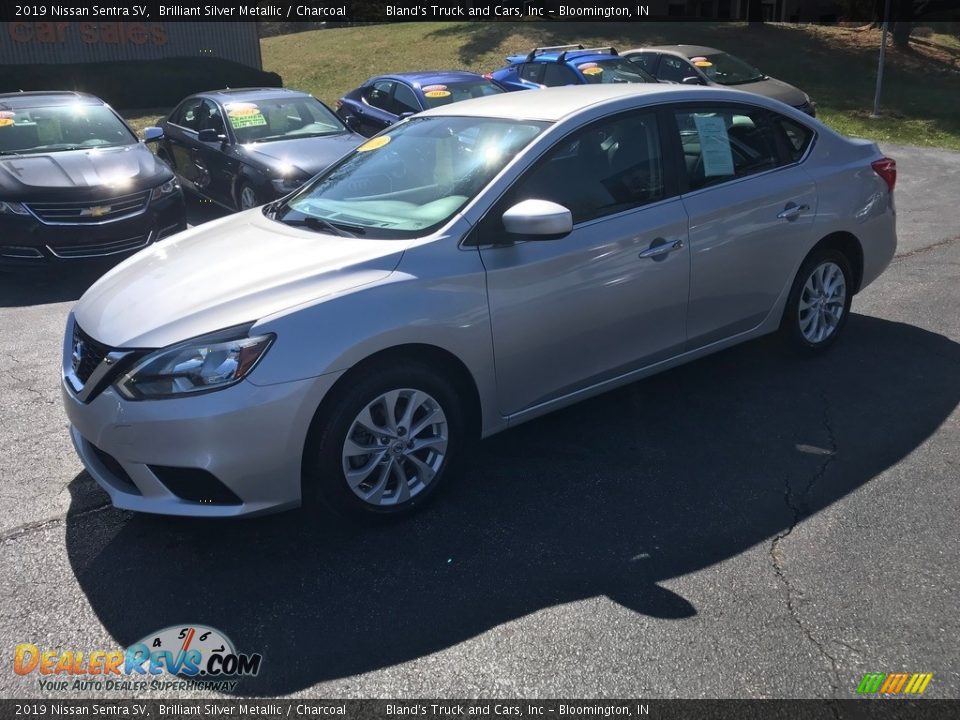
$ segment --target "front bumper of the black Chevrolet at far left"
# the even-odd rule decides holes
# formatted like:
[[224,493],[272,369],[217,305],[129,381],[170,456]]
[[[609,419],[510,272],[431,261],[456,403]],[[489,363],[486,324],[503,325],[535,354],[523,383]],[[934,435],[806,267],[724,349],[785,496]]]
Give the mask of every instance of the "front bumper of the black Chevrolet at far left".
[[133,217],[102,224],[45,224],[33,215],[0,216],[0,267],[46,267],[123,257],[185,230],[183,193],[153,200]]

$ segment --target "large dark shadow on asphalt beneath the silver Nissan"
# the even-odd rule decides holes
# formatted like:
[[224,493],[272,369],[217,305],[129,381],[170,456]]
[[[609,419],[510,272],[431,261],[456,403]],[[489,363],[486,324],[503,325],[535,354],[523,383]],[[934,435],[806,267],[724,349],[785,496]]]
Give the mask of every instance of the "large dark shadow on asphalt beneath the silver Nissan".
[[[823,357],[749,343],[495,436],[407,520],[71,511],[68,556],[120,645],[201,623],[262,653],[244,695],[392,666],[594,596],[682,622],[697,608],[663,581],[869,492],[960,401],[957,343],[860,315],[847,330]],[[71,483],[77,507],[86,482]]]

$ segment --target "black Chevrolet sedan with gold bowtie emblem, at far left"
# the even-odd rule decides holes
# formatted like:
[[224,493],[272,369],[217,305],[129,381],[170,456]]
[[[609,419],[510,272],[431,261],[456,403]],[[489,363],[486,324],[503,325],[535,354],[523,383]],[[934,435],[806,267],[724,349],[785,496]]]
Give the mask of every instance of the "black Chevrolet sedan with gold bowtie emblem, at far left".
[[120,258],[184,228],[170,168],[102,100],[0,95],[0,268]]

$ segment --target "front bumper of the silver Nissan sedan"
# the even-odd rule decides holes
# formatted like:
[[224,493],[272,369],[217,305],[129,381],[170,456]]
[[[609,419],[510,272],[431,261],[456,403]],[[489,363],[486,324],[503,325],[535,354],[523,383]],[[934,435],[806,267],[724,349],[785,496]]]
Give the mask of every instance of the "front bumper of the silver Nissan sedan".
[[[77,454],[114,506],[239,517],[300,504],[307,432],[338,376],[268,386],[245,380],[153,401],[128,401],[110,387],[88,403],[64,378],[63,403]],[[202,487],[191,487],[193,479]]]

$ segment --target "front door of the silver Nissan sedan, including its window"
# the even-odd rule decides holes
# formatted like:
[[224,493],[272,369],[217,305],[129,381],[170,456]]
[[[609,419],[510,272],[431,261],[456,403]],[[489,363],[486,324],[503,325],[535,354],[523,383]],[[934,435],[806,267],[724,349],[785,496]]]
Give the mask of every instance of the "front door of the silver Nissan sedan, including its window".
[[[687,215],[654,111],[574,132],[517,180],[478,228],[499,409],[558,399],[680,352],[690,277]],[[573,231],[508,235],[526,199],[567,207]]]

